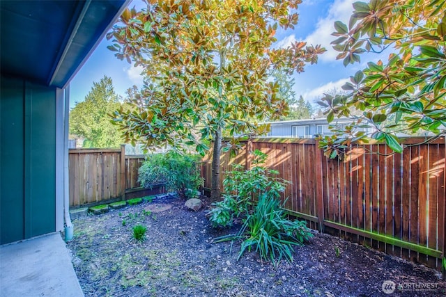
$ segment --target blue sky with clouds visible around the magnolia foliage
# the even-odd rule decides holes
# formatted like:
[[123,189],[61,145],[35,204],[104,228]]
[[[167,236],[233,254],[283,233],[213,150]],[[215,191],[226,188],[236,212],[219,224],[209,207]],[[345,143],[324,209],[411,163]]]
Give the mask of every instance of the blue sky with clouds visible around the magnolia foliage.
[[[332,49],[330,42],[334,40],[331,35],[333,23],[337,20],[348,22],[352,13],[352,3],[357,0],[303,0],[298,7],[299,22],[294,30],[279,31],[275,47],[286,47],[294,40],[307,41],[313,45],[323,45],[328,49],[319,56],[317,65],[307,65],[305,72],[295,74],[294,90],[297,96],[302,95],[306,100],[315,102],[324,92],[333,88],[340,88],[350,75],[353,75],[363,65],[348,65],[344,67],[342,61],[337,61],[337,52]],[[141,6],[141,0],[133,0],[130,6]],[[70,83],[70,107],[75,102],[81,102],[91,90],[93,81],[100,81],[104,75],[112,77],[116,93],[124,95],[125,90],[136,84],[142,85],[142,78],[137,68],[125,61],[120,61],[114,52],[107,49],[111,42],[102,40],[89,60]],[[362,56],[364,61],[377,56]]]

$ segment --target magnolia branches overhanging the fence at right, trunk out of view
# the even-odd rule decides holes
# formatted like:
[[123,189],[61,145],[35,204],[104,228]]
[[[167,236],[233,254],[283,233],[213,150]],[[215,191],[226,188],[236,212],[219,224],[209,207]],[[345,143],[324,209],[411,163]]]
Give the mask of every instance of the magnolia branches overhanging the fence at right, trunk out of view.
[[369,62],[356,72],[342,87],[348,95],[323,97],[329,122],[336,115],[362,111],[354,117],[354,125],[340,131],[344,137],[321,141],[326,154],[336,156],[350,141],[364,139],[364,132],[356,129],[364,124],[376,128],[371,138],[384,141],[395,152],[403,150],[395,132],[445,135],[445,0],[371,0],[355,2],[353,8],[348,25],[334,23],[337,58],[348,65],[360,63],[364,52],[393,50],[386,62]]

